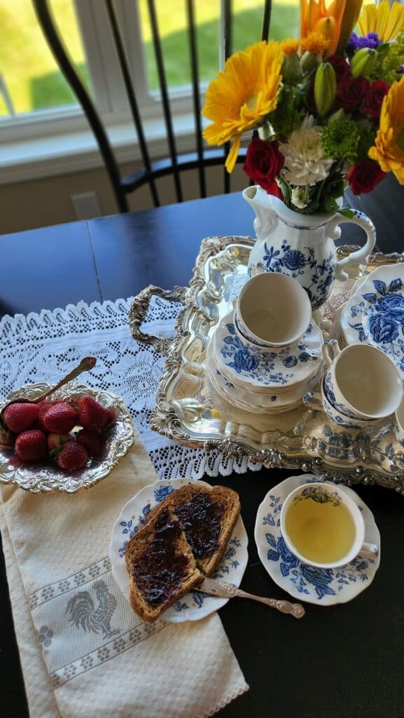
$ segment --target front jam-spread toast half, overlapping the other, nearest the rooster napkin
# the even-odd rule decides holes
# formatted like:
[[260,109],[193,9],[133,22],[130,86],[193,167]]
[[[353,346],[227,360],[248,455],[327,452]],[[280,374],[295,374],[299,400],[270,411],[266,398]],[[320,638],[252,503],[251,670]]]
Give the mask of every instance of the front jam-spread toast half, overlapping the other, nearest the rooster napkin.
[[155,621],[166,608],[202,581],[191,547],[172,507],[159,508],[126,546],[133,610]]

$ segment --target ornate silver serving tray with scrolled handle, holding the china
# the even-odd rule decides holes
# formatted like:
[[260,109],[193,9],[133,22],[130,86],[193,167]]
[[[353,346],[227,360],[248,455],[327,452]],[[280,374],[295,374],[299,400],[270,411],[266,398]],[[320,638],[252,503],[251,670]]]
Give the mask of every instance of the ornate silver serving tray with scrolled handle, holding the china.
[[[404,455],[388,422],[371,432],[332,424],[323,411],[298,409],[283,414],[251,414],[236,409],[208,386],[205,358],[217,322],[232,308],[247,276],[253,246],[249,237],[210,237],[202,241],[189,287],[166,292],[149,286],[129,311],[134,338],[166,355],[165,373],[151,414],[152,428],[174,442],[227,457],[247,456],[266,467],[314,472],[347,485],[377,483],[404,493]],[[339,257],[352,247],[339,248]],[[354,280],[380,264],[403,262],[401,254],[374,254],[367,267],[351,267],[351,279],[336,282],[323,318],[333,319]],[[140,330],[152,294],[184,304],[174,339]]]

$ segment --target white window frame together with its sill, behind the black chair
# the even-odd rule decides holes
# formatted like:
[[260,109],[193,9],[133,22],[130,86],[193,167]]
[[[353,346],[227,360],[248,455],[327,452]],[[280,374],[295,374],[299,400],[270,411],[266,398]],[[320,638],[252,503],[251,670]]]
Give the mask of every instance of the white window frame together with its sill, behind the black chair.
[[[105,7],[99,0],[72,0],[72,4],[95,107],[116,159],[136,162],[141,156]],[[160,93],[148,87],[138,2],[116,0],[116,10],[149,151],[152,158],[162,157],[168,151],[164,116]],[[206,88],[207,83],[201,83],[201,106]],[[192,151],[195,126],[191,85],[169,88],[169,98],[177,151]],[[0,118],[0,158],[0,185],[103,166],[93,132],[78,104]]]

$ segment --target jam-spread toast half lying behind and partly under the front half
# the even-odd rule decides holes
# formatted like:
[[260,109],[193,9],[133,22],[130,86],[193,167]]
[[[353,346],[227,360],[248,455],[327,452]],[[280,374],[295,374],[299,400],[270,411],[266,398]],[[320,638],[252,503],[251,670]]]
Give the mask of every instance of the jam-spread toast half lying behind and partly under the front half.
[[182,523],[199,571],[212,576],[220,566],[240,516],[238,493],[225,486],[207,488],[192,483],[169,494],[158,513],[166,506],[172,507]]

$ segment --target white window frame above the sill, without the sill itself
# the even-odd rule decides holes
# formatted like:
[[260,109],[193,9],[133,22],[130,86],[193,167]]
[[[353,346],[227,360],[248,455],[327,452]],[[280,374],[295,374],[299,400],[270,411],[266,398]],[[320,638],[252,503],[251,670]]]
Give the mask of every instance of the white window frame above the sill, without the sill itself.
[[[99,0],[72,0],[72,4],[75,7],[82,37],[95,107],[107,126],[131,121],[126,91],[104,6],[99,4]],[[147,85],[138,4],[133,3],[133,0],[116,0],[116,9],[142,118],[156,120],[161,116],[161,101],[159,92],[150,91]],[[135,67],[136,73],[133,71]],[[201,83],[201,100],[206,87],[207,83]],[[174,115],[192,111],[191,92],[191,85],[169,88]],[[86,127],[88,127],[87,120],[78,104],[36,110],[0,118],[0,141],[49,136],[50,132],[57,135],[67,131],[79,131]]]

